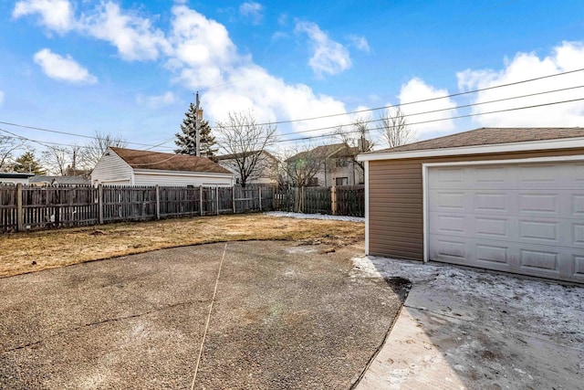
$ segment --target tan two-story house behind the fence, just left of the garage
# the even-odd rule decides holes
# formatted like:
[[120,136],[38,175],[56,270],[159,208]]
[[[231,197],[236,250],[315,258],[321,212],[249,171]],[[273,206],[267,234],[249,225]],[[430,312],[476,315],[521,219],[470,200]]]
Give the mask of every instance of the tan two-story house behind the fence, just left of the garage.
[[310,180],[310,186],[332,186],[363,184],[364,174],[355,162],[358,148],[346,143],[318,146],[307,152],[297,153],[287,159],[288,164],[302,159],[316,159],[319,163],[317,174]]

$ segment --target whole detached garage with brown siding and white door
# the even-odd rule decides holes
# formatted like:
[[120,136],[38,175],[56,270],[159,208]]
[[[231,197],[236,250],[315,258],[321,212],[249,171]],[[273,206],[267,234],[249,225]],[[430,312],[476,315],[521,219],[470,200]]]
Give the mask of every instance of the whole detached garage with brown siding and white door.
[[584,283],[584,129],[482,128],[359,160],[368,255]]

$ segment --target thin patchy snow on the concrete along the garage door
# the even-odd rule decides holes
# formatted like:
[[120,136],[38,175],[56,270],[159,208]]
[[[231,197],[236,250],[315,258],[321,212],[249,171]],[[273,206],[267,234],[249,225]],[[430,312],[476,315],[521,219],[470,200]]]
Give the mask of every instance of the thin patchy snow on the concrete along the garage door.
[[353,272],[361,277],[401,277],[414,285],[423,283],[436,294],[456,297],[470,310],[478,305],[488,308],[490,314],[482,321],[514,323],[522,331],[584,352],[584,287],[447,264],[372,256],[352,261]]

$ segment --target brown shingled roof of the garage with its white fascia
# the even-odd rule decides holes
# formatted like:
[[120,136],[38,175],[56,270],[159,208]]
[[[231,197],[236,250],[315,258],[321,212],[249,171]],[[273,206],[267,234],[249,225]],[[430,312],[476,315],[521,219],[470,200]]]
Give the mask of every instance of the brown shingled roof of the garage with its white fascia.
[[359,161],[392,160],[477,153],[506,153],[584,147],[584,128],[484,127],[382,151],[363,153]]

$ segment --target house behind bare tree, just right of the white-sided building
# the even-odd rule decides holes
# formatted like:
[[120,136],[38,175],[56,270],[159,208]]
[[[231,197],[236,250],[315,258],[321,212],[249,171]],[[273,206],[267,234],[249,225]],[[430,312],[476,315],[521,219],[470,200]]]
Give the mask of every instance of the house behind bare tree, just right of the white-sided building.
[[277,184],[278,161],[274,155],[269,152],[247,152],[236,154],[224,154],[216,156],[217,162],[235,174],[235,181],[239,183],[239,170],[237,168],[237,159],[243,156],[249,156],[260,153],[257,164],[255,165],[255,173],[252,174],[247,184]]

